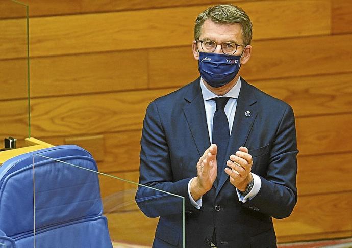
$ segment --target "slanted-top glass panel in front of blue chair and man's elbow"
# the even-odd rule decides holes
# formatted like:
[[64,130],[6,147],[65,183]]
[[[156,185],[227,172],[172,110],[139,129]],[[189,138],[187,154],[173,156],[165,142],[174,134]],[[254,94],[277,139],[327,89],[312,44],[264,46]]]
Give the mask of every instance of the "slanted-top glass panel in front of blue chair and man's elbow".
[[[34,247],[152,247],[157,229],[178,234],[168,242],[184,247],[183,197],[99,173],[90,157],[65,156],[33,156]],[[179,225],[160,231],[161,218]]]

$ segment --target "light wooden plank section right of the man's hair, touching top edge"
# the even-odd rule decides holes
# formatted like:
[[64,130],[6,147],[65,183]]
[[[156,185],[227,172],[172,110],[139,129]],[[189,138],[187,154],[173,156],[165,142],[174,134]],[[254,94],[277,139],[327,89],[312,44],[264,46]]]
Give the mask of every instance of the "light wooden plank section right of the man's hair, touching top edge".
[[330,34],[330,0],[264,1],[239,6],[253,22],[254,40]]

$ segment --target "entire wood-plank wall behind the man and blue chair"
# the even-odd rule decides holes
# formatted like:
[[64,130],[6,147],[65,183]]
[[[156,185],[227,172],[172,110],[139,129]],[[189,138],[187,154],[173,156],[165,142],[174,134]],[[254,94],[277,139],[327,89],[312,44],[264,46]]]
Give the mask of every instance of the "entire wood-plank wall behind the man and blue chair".
[[[228,1],[23,1],[32,16],[32,136],[89,150],[114,176],[99,176],[113,240],[150,246],[157,219],[139,212],[131,183],[145,109],[199,76],[194,20]],[[299,198],[289,218],[274,221],[278,241],[352,236],[352,2],[231,3],[254,26],[241,76],[296,117]],[[19,143],[29,124],[25,11],[0,0],[0,137]]]

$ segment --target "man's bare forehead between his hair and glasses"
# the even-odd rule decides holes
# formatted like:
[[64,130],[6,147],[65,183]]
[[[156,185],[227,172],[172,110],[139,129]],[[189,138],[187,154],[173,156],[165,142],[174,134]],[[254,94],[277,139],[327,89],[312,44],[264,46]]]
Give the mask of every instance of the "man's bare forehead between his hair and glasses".
[[200,29],[200,39],[208,38],[216,42],[236,41],[242,42],[242,27],[239,23],[220,24],[210,19],[205,20]]

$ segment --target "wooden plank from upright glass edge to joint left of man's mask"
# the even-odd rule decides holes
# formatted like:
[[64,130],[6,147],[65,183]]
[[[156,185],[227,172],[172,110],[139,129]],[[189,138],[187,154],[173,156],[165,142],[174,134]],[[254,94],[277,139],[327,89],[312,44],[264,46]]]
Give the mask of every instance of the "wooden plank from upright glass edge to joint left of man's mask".
[[31,60],[31,96],[147,88],[146,51],[91,53]]

